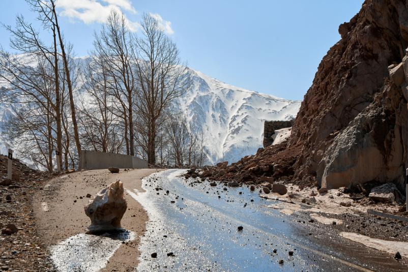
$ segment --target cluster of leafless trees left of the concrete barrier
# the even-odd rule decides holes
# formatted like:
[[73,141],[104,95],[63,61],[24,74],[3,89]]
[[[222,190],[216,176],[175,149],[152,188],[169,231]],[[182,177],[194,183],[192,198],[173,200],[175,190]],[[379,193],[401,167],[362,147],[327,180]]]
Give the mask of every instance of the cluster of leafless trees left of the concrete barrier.
[[[76,152],[79,154],[81,150],[73,99],[74,75],[70,67],[72,47],[65,46],[53,0],[27,0],[27,3],[38,13],[38,20],[52,35],[53,44],[45,45],[33,25],[21,15],[17,16],[15,28],[5,27],[13,37],[11,47],[21,54],[10,55],[2,50],[0,79],[8,86],[3,98],[22,105],[10,123],[10,136],[19,139],[27,156],[34,162],[51,170],[54,145],[57,154],[68,149],[63,144],[63,137],[68,143],[70,138],[68,130],[71,126],[68,128],[66,124],[68,118],[72,124]],[[36,65],[33,66],[33,63]],[[65,150],[65,154],[68,153]],[[62,156],[57,158],[61,165]],[[68,165],[68,156],[65,165]]]

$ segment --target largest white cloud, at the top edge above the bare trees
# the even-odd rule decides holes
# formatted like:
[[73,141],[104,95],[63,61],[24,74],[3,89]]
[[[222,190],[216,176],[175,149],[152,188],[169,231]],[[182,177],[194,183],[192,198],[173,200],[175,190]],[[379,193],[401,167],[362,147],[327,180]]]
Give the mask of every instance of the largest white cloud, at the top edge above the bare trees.
[[[84,23],[105,23],[112,10],[119,14],[123,14],[122,10],[137,13],[130,0],[57,0],[56,7],[61,9],[62,16]],[[137,31],[140,24],[130,21],[126,15],[125,18],[130,31]]]

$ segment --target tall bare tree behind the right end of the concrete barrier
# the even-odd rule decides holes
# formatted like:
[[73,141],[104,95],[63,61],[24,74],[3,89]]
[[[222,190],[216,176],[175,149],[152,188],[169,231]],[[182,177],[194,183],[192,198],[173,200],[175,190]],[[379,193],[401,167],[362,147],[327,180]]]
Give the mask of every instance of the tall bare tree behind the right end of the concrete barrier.
[[179,51],[148,14],[141,22],[142,35],[136,37],[138,92],[135,102],[139,118],[145,128],[139,133],[147,139],[148,163],[156,163],[158,122],[173,100],[183,95],[190,85],[186,66]]

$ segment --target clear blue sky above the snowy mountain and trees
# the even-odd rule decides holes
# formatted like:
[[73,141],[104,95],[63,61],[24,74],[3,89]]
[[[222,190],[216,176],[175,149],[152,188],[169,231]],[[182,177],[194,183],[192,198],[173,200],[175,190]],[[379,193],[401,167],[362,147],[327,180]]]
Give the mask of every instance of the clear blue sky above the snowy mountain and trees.
[[[58,0],[65,38],[77,56],[92,49],[109,9],[122,11],[133,30],[143,12],[158,16],[183,61],[226,83],[302,100],[317,66],[363,0]],[[0,21],[35,19],[24,0],[0,0]],[[0,44],[9,50],[9,34]],[[46,37],[44,38],[46,40]]]

